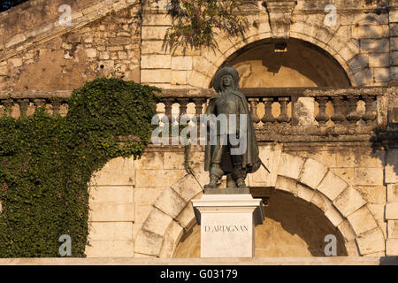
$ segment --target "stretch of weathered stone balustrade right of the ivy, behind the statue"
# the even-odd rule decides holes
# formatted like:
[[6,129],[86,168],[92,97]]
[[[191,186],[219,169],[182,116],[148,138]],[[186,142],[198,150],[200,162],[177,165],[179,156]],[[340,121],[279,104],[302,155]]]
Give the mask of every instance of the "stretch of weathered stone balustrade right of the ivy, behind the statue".
[[[241,88],[248,98],[257,139],[278,142],[378,140],[387,128],[393,88]],[[212,89],[166,89],[158,112],[169,120],[186,113],[198,117]],[[160,105],[160,106],[159,106]]]

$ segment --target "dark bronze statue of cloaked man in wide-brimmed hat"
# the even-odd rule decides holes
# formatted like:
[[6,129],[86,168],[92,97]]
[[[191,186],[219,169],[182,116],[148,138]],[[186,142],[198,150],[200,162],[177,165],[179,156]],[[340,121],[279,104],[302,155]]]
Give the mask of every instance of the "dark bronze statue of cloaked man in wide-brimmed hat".
[[[213,88],[217,91],[217,95],[210,98],[206,110],[207,117],[210,114],[214,114],[216,117],[221,114],[225,114],[226,117],[234,114],[236,115],[236,126],[233,132],[231,132],[229,126],[225,131],[218,131],[216,134],[217,142],[210,142],[208,138],[205,147],[204,170],[210,171],[210,183],[205,187],[217,187],[218,180],[226,175],[226,187],[246,188],[247,173],[256,172],[261,165],[261,160],[258,157],[256,134],[248,101],[238,91],[238,72],[232,67],[222,68],[214,77]],[[245,116],[246,119],[240,119],[242,116]],[[245,125],[240,125],[240,121]],[[242,128],[245,130],[240,133]],[[231,139],[231,134],[236,135],[239,141],[246,142],[247,146],[242,154],[232,154],[233,149],[239,148],[240,145],[233,142],[236,139]],[[240,136],[240,134],[246,135]],[[225,142],[220,142],[223,141],[223,138],[225,138]]]

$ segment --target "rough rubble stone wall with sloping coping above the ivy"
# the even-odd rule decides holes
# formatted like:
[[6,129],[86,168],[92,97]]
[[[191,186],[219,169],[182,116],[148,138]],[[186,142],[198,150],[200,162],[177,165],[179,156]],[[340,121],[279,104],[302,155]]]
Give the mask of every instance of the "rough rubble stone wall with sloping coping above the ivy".
[[[57,18],[42,19],[50,25],[49,30],[34,27],[23,33],[21,42],[11,38],[12,44],[5,42],[10,47],[0,50],[0,89],[73,89],[87,80],[110,75],[140,81],[141,5],[138,1],[112,3],[96,1],[89,5],[88,1],[85,9],[73,10],[71,27],[59,26],[58,6],[51,4],[48,9],[54,9],[52,14]],[[4,22],[14,14],[23,17],[31,12],[14,11],[4,16]],[[19,32],[18,27],[15,32]]]

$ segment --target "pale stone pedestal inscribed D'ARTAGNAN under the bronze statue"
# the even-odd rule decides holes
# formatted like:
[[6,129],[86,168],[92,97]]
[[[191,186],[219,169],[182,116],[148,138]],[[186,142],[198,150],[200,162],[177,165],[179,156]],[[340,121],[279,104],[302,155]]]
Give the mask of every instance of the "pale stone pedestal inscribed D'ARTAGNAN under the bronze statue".
[[264,221],[261,199],[218,192],[192,203],[201,226],[201,257],[254,256],[255,226]]

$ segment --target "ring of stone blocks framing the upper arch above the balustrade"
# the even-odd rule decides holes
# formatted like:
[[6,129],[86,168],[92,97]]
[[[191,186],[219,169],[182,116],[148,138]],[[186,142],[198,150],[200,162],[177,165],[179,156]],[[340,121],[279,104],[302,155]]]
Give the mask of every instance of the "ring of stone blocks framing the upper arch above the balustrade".
[[[367,84],[362,76],[356,75],[365,65],[358,64],[356,58],[360,50],[351,36],[351,26],[325,27],[322,23],[310,25],[309,22],[297,21],[290,27],[290,37],[310,42],[333,57],[345,71],[352,86]],[[203,50],[195,58],[193,70],[189,75],[189,84],[195,88],[209,88],[218,68],[228,57],[253,42],[272,39],[272,32],[267,20],[259,22],[257,28],[250,28],[245,40],[231,38],[228,35],[218,37],[218,49]],[[359,69],[358,69],[359,65]]]

